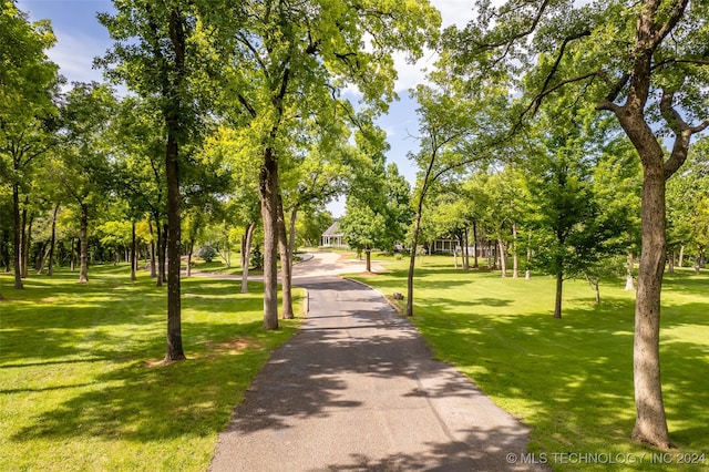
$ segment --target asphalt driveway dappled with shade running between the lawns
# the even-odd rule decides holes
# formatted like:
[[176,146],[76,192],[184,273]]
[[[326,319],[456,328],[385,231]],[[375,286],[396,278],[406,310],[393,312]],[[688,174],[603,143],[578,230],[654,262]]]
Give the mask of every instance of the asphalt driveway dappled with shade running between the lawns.
[[308,318],[235,410],[212,471],[533,470],[507,460],[526,428],[431,360],[379,293],[307,265]]

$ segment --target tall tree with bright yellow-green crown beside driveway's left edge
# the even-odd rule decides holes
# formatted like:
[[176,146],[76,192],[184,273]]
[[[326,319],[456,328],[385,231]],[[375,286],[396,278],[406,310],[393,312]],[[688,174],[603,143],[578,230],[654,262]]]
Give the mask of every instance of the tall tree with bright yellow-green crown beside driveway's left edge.
[[[264,224],[264,328],[278,328],[276,255],[279,161],[287,158],[291,131],[306,117],[328,112],[354,117],[341,91],[353,84],[362,102],[383,110],[394,96],[392,53],[419,57],[440,24],[427,1],[391,2],[275,0],[240,2],[210,18],[230,53],[229,93],[250,116],[260,155],[259,195]],[[362,43],[368,42],[368,48]],[[360,116],[361,117],[361,116]],[[370,116],[371,117],[371,116]]]

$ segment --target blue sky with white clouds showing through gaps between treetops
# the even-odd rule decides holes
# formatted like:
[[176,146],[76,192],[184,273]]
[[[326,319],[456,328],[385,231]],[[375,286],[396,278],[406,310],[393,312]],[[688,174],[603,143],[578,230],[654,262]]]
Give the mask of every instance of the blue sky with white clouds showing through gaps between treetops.
[[[431,3],[441,11],[444,27],[462,27],[473,16],[472,0],[431,0]],[[111,39],[96,20],[96,12],[111,11],[113,3],[110,0],[19,0],[18,6],[30,13],[31,20],[51,20],[58,42],[49,55],[70,82],[102,81],[102,72],[92,69],[92,61],[105,53],[111,47]],[[415,179],[417,168],[407,154],[418,148],[417,140],[411,137],[417,134],[418,119],[417,104],[409,98],[408,90],[423,80],[421,69],[431,66],[433,60],[432,53],[413,65],[407,64],[403,55],[397,60],[397,92],[400,100],[392,103],[388,115],[379,120],[391,146],[388,161],[397,163],[401,174],[411,183]],[[335,203],[329,208],[336,216],[343,212],[341,203]]]

